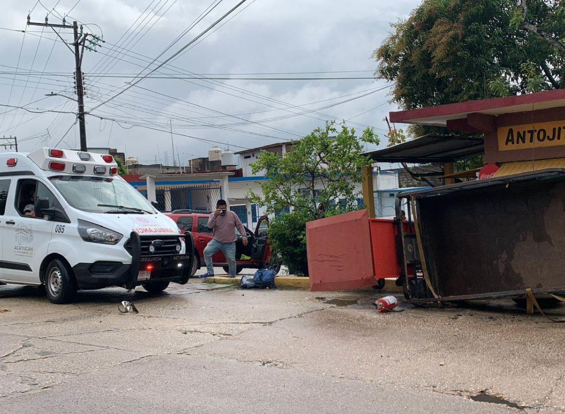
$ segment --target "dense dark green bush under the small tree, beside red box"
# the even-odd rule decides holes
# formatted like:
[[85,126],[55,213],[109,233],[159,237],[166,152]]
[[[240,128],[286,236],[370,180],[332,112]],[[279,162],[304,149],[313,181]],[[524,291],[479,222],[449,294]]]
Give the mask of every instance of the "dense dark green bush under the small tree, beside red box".
[[269,224],[269,240],[275,255],[288,266],[290,274],[308,275],[306,257],[306,222],[313,219],[307,214],[281,214]]

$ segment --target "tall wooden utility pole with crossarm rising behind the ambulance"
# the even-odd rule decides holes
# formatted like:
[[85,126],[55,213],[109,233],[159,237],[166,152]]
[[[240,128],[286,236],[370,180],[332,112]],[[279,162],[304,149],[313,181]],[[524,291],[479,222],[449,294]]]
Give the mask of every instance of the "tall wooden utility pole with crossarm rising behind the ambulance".
[[[59,36],[60,40],[63,41],[65,46],[75,55],[75,77],[76,77],[76,95],[77,95],[77,103],[79,104],[78,112],[77,112],[77,119],[79,120],[79,132],[80,132],[80,150],[86,151],[88,150],[86,145],[86,126],[84,122],[84,84],[82,83],[82,56],[84,55],[84,49],[94,50],[94,48],[98,45],[99,41],[103,40],[95,35],[90,35],[89,33],[83,33],[82,25],[80,25],[80,32],[79,32],[79,25],[76,21],[72,22],[72,26],[65,24],[65,19],[63,19],[63,24],[53,24],[49,23],[47,16],[45,16],[45,23],[37,23],[31,21],[31,16],[28,15],[28,26],[43,26],[43,27],[50,27],[55,32],[55,35]],[[64,41],[64,39],[59,35],[59,32],[55,31],[55,28],[60,29],[72,29],[73,31],[73,43],[74,50],[69,48],[69,45]],[[91,36],[94,40],[88,40],[88,36]],[[85,43],[88,40],[90,46],[86,46]]]

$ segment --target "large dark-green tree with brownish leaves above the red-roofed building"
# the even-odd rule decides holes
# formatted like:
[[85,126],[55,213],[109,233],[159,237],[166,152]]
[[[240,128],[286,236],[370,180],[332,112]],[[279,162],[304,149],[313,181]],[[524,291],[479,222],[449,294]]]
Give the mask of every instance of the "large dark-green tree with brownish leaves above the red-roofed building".
[[392,27],[375,75],[402,109],[565,88],[563,1],[424,0]]

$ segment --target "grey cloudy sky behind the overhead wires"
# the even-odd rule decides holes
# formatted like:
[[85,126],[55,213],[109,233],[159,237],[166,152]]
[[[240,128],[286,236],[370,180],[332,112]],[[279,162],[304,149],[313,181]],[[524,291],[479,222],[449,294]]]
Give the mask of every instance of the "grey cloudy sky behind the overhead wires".
[[[22,151],[79,146],[76,102],[45,96],[76,97],[73,54],[53,29],[26,27],[29,11],[32,21],[49,14],[49,22],[59,24],[68,15],[67,23],[80,21],[106,41],[85,51],[82,63],[89,146],[171,164],[172,124],[175,158],[186,164],[215,143],[237,151],[297,139],[326,119],[372,126],[383,136],[383,118],[396,109],[383,80],[210,78],[370,77],[371,53],[389,22],[407,16],[419,0],[247,0],[136,82],[134,76],[157,68],[238,1],[2,0],[0,103],[11,106],[0,107],[0,136],[17,136]],[[72,41],[72,30],[59,33]]]

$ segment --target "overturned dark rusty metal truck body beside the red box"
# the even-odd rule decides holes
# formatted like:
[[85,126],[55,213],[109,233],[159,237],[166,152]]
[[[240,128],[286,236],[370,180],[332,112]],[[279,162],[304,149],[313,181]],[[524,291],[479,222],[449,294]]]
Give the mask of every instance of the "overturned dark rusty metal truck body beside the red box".
[[[547,169],[401,195],[418,260],[402,256],[412,301],[565,292],[565,169]],[[414,236],[399,232],[406,245]],[[406,274],[414,266],[414,274]],[[410,273],[410,271],[408,271]]]

